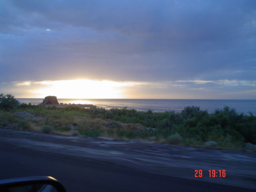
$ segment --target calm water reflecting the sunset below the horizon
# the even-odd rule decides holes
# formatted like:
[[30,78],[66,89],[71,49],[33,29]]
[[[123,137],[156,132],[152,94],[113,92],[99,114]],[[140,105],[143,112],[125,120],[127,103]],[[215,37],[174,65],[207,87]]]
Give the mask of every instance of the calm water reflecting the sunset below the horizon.
[[[40,104],[43,98],[16,98],[21,103]],[[249,115],[249,112],[256,115],[256,100],[214,100],[214,99],[58,99],[59,103],[66,104],[93,104],[106,109],[122,108],[137,111],[153,112],[172,111],[180,112],[186,106],[199,106],[201,110],[208,110],[209,113],[216,109],[223,109],[224,106],[235,108],[236,112]]]

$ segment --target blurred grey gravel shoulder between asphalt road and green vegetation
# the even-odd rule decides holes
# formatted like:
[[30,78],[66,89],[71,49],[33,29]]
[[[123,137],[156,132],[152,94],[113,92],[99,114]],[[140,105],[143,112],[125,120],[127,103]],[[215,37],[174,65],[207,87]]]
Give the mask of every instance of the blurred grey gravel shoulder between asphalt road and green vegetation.
[[[74,137],[2,127],[0,144],[20,150],[82,158],[106,166],[256,189],[255,151]],[[202,170],[203,176],[195,177],[195,170]],[[208,170],[226,170],[226,177],[209,177]]]

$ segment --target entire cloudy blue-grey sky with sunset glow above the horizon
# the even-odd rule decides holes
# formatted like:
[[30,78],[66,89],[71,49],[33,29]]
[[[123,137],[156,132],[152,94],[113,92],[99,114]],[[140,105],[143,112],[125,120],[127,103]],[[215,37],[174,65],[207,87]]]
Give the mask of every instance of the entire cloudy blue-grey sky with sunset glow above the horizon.
[[0,0],[0,93],[256,99],[256,1]]

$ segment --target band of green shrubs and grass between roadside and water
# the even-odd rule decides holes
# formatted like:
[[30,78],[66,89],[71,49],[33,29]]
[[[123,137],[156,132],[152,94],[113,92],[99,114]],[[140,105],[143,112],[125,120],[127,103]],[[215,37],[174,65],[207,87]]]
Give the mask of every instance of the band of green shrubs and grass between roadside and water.
[[[13,112],[29,112],[43,119],[24,120],[12,115]],[[244,149],[245,143],[256,144],[256,116],[252,113],[249,116],[238,114],[228,106],[209,114],[197,106],[185,107],[181,112],[155,113],[151,110],[128,110],[127,107],[106,110],[95,106],[17,104],[12,111],[7,108],[0,112],[0,126],[22,129],[42,127],[42,132],[50,130],[49,133],[105,136],[119,140],[144,139],[186,146]]]

